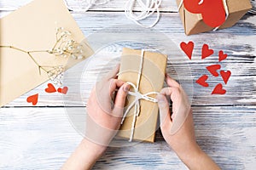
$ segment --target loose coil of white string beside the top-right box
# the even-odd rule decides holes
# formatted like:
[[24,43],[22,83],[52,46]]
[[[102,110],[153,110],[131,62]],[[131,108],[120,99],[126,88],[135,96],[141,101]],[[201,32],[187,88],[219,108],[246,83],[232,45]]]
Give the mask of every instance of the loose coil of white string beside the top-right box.
[[[160,4],[162,0],[146,0],[146,3],[143,2],[143,0],[128,0],[125,4],[125,16],[133,20],[138,26],[142,26],[144,28],[151,28],[155,26],[158,21],[160,20]],[[139,8],[141,8],[140,14],[135,14],[133,12],[133,9],[135,7],[135,3],[139,5]],[[140,23],[140,20],[144,20],[154,14],[156,12],[156,19],[154,20],[154,23],[152,23],[149,26],[143,25]]]

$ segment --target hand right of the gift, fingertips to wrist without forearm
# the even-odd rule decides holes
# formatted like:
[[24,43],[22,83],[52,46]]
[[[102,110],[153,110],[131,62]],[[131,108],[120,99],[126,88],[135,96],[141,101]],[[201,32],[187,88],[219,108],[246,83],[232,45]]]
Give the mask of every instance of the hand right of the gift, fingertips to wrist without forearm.
[[[192,110],[183,88],[166,75],[168,88],[158,95],[160,128],[166,142],[179,154],[196,148]],[[172,100],[172,115],[167,98]]]

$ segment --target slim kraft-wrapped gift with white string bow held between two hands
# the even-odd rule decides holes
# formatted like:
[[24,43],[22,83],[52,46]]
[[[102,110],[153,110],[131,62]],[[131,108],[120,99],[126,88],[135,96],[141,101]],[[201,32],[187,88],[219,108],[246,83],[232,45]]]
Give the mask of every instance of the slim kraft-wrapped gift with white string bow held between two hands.
[[117,138],[154,142],[158,119],[156,95],[163,87],[167,56],[124,48],[119,80],[131,85]]

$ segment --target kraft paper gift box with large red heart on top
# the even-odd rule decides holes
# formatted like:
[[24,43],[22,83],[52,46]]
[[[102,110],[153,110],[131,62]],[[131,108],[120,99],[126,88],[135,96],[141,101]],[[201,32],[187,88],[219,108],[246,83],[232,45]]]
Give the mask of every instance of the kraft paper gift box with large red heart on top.
[[186,35],[234,26],[252,8],[250,0],[177,0]]

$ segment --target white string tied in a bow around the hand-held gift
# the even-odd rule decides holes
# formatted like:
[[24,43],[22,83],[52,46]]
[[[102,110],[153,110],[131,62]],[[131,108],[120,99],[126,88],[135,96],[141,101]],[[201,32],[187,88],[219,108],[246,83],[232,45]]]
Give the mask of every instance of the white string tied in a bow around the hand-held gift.
[[133,134],[134,134],[134,130],[135,130],[135,123],[136,123],[136,120],[137,120],[137,116],[139,116],[139,114],[140,114],[140,99],[145,99],[147,101],[151,101],[151,102],[156,103],[157,99],[154,99],[154,98],[150,97],[149,95],[159,94],[158,92],[148,92],[147,94],[141,94],[138,90],[139,85],[140,85],[140,81],[141,81],[141,77],[142,77],[142,71],[143,71],[144,52],[145,51],[142,50],[141,60],[140,60],[140,67],[139,67],[138,77],[137,77],[137,86],[135,84],[133,84],[132,82],[126,82],[127,84],[131,85],[131,87],[134,89],[134,92],[128,92],[128,94],[135,97],[135,99],[131,102],[131,105],[129,105],[129,107],[126,109],[126,111],[124,113],[124,116],[122,118],[122,121],[121,121],[121,124],[123,124],[123,122],[125,121],[125,117],[127,116],[128,112],[134,106],[134,113],[133,113],[133,120],[132,120],[132,123],[131,123],[131,134],[130,134],[129,142],[131,142],[132,139],[133,139]]

